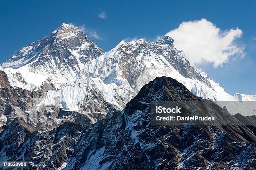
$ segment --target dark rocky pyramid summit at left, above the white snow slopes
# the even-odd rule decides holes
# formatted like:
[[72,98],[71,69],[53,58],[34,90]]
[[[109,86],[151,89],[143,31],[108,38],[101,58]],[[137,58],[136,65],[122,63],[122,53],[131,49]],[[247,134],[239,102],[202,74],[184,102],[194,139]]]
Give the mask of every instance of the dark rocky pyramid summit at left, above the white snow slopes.
[[57,67],[69,61],[76,65],[79,61],[87,62],[91,58],[104,54],[79,28],[61,24],[54,32],[41,40],[32,42],[10,59],[1,64],[3,68],[19,68],[31,63],[53,64]]

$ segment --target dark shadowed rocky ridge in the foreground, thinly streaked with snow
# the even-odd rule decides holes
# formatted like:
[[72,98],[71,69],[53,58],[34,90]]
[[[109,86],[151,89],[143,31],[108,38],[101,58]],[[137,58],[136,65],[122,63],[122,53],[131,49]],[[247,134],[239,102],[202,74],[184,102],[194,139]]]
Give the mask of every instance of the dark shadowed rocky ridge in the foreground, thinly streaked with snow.
[[199,100],[176,80],[158,77],[123,111],[93,125],[37,131],[15,119],[0,133],[2,160],[33,162],[29,169],[253,169],[256,132],[246,126],[151,126],[151,102]]

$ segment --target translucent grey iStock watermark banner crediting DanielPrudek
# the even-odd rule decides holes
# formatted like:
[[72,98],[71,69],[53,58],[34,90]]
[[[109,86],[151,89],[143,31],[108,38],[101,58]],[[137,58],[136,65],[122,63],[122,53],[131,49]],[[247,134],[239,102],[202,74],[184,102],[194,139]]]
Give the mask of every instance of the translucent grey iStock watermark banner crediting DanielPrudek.
[[[151,125],[242,125],[239,118],[227,110],[234,110],[237,103],[154,102],[151,103]],[[245,107],[245,106],[244,106]],[[244,110],[243,110],[244,111]],[[252,125],[248,122],[247,125]]]

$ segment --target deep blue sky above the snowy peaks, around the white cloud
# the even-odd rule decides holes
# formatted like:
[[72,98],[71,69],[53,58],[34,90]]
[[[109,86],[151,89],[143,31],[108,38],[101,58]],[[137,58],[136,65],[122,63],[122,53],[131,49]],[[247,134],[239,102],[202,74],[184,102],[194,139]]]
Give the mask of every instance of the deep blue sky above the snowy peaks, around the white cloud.
[[61,23],[84,25],[91,39],[108,51],[123,39],[156,40],[183,21],[207,19],[221,30],[239,28],[245,57],[214,68],[198,64],[225,90],[256,94],[256,1],[100,1],[0,0],[0,62],[21,47],[39,40]]

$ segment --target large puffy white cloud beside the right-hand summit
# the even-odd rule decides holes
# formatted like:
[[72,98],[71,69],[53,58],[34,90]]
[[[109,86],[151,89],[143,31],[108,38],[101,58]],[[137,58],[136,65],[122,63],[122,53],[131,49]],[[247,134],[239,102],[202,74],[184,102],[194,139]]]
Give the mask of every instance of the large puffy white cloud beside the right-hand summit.
[[222,31],[210,21],[201,19],[183,22],[166,35],[174,38],[174,46],[182,50],[192,64],[211,62],[218,67],[228,62],[231,56],[244,57],[244,47],[234,44],[242,33],[239,28]]

